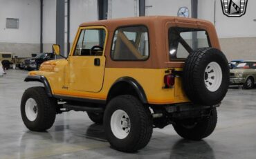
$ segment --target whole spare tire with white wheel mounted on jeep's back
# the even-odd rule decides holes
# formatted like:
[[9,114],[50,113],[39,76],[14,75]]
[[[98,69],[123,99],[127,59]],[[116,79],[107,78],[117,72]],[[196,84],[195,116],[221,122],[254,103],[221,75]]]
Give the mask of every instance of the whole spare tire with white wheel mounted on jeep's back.
[[183,89],[195,104],[219,104],[229,86],[226,56],[216,48],[194,50],[183,66]]

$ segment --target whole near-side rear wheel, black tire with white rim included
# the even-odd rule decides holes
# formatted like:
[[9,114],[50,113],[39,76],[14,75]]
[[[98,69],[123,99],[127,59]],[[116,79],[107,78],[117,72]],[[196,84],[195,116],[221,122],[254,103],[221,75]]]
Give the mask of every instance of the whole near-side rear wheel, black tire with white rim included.
[[152,137],[152,115],[136,97],[120,95],[107,104],[104,131],[111,147],[134,152],[143,149]]

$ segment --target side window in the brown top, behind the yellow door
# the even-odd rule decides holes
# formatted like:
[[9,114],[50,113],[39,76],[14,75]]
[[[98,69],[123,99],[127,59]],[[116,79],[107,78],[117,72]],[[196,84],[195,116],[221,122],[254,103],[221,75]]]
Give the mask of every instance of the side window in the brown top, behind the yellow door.
[[145,26],[118,28],[113,37],[111,58],[121,61],[146,60],[149,57],[149,37]]

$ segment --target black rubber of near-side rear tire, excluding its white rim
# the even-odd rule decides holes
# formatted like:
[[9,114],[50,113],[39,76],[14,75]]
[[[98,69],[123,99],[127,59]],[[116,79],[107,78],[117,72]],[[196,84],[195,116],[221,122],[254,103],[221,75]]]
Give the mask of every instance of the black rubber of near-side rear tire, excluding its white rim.
[[[111,117],[117,110],[125,111],[130,120],[130,131],[123,139],[117,138],[111,129]],[[113,98],[107,104],[103,121],[107,140],[118,151],[134,152],[143,149],[152,137],[152,115],[149,108],[132,95]]]

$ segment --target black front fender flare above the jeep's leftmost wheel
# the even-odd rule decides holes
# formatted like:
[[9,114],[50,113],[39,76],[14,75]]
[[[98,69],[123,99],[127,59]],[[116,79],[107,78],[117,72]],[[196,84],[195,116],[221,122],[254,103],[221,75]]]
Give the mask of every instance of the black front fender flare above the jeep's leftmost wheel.
[[51,91],[51,86],[48,82],[48,80],[46,79],[46,77],[44,77],[43,75],[28,75],[25,79],[25,82],[41,82],[42,84],[44,84],[44,88],[46,89],[46,94],[49,97],[53,97],[53,93]]

